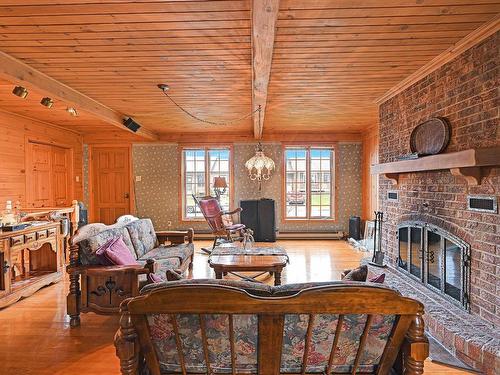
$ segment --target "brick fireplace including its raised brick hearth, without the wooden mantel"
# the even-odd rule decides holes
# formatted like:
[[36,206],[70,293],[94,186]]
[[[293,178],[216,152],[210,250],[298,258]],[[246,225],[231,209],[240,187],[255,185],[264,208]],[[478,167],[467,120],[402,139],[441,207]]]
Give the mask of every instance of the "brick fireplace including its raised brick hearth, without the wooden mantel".
[[[438,116],[446,118],[451,126],[450,143],[445,153],[500,146],[498,46],[499,32],[381,104],[380,163],[395,161],[397,156],[409,153],[412,129],[417,124]],[[388,197],[388,193],[393,191],[398,194],[397,200]],[[448,293],[448,296],[447,293],[441,294],[457,309],[462,309],[463,313],[471,314],[474,319],[483,322],[482,327],[490,330],[488,334],[500,330],[500,215],[498,210],[489,213],[474,211],[467,205],[471,195],[500,201],[500,168],[487,169],[486,176],[476,186],[467,183],[462,177],[452,175],[449,170],[402,173],[397,186],[381,176],[379,194],[380,209],[387,220],[384,223],[383,249],[386,250],[391,265],[395,269],[399,268],[402,276],[408,276],[409,282],[429,284],[428,276],[420,277],[419,271],[412,268],[409,258],[411,250],[403,251],[403,257],[400,251],[401,236],[405,233],[401,228],[420,226],[421,232],[415,231],[415,238],[421,236],[420,241],[428,241],[430,236],[435,243],[439,241],[439,245],[427,243],[422,247],[435,246],[437,250],[432,251],[432,256],[441,254],[443,257],[440,263],[431,264],[425,258],[431,252],[423,255],[427,266],[422,267],[427,271],[434,267],[431,280],[433,277],[446,278],[444,273],[439,273],[441,276],[436,274],[440,272],[438,268],[445,265],[446,259],[451,261],[453,256],[463,257],[456,263],[460,267],[454,268],[454,271],[459,272],[460,269],[462,273],[454,274],[453,277],[460,279],[454,280],[455,287],[460,286],[460,293],[463,292],[464,295],[458,299],[449,295],[456,293],[456,290]],[[424,231],[427,234],[424,235]],[[436,231],[439,232],[439,237],[434,235]],[[407,236],[411,237],[411,233],[412,229],[406,229]],[[443,240],[443,234],[449,234],[449,243],[454,241],[460,251],[465,253],[458,255],[455,254],[456,250],[450,250],[447,257],[447,242]],[[409,238],[406,240],[411,242]],[[415,263],[420,261],[419,258]],[[464,265],[467,267],[462,268]],[[424,269],[420,272],[424,272]],[[449,280],[431,281],[436,296],[445,291],[447,281],[452,282],[452,277]],[[432,291],[433,285],[430,288],[429,285],[426,286]],[[451,290],[449,285],[448,290]],[[430,293],[430,296],[433,295]],[[430,333],[441,338],[440,341],[446,341],[443,333],[446,324],[435,319],[429,312],[426,319]],[[468,341],[475,342],[471,337],[452,338],[451,341],[453,342],[445,342],[445,345],[476,369],[490,371],[491,366],[499,365],[498,347],[496,350],[493,347],[493,350],[490,348],[485,351],[486,344],[471,344],[470,349],[467,349]],[[488,344],[495,346],[498,341]],[[493,355],[492,358],[495,351],[496,357]]]

